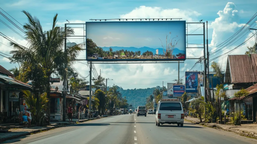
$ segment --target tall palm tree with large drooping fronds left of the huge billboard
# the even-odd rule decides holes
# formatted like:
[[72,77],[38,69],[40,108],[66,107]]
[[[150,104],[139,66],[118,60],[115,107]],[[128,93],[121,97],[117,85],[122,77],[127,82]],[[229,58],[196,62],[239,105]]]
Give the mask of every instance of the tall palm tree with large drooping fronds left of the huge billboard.
[[[39,65],[46,69],[47,81],[41,87],[46,86],[47,98],[50,98],[51,74],[59,72],[67,77],[65,65],[70,67],[74,64],[83,45],[75,45],[63,51],[65,36],[73,35],[74,31],[70,27],[65,29],[56,26],[58,14],[54,15],[51,30],[43,31],[37,17],[33,17],[27,11],[23,10],[22,12],[28,18],[28,23],[23,26],[23,29],[26,33],[25,39],[29,44],[28,47],[23,47],[11,42],[10,46],[13,46],[15,50],[11,51],[10,54],[13,54],[14,60],[30,64],[33,67]],[[50,124],[50,101],[47,106],[46,113],[49,119],[48,124]]]

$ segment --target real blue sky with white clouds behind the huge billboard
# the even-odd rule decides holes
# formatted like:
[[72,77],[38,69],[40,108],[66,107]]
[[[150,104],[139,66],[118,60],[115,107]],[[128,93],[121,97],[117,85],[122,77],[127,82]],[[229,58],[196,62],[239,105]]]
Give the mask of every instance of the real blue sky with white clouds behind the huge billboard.
[[[38,17],[44,31],[51,28],[54,14],[58,13],[58,26],[63,26],[68,20],[70,23],[85,23],[89,19],[158,19],[158,18],[182,18],[188,23],[208,21],[208,37],[205,30],[205,39],[208,39],[210,59],[225,54],[243,43],[252,34],[247,31],[245,35],[238,38],[235,43],[224,47],[223,51],[215,52],[216,46],[230,38],[240,28],[242,28],[256,13],[256,0],[1,0],[1,8],[10,14],[17,25],[22,27],[27,19],[21,11],[26,10],[33,16]],[[4,11],[0,9],[2,13]],[[6,14],[6,13],[5,13]],[[15,28],[10,22],[0,15],[0,19],[23,34]],[[256,19],[256,17],[255,17]],[[207,23],[205,23],[205,27]],[[252,28],[256,27],[256,23]],[[83,35],[83,29],[74,29],[76,35]],[[202,34],[203,25],[189,24],[187,26],[188,34]],[[10,28],[0,22],[0,32],[13,39],[15,42],[27,46],[27,41],[14,33]],[[24,36],[24,34],[23,34]],[[188,36],[187,47],[203,47],[203,36]],[[8,47],[9,42],[0,36],[0,52],[10,55],[13,49]],[[70,39],[70,42],[79,43],[78,40]],[[2,44],[3,43],[3,44]],[[255,39],[247,41],[242,47],[239,47],[230,55],[244,54],[247,46],[253,46]],[[199,45],[200,44],[200,45]],[[202,45],[201,45],[202,44]],[[6,46],[7,45],[7,46]],[[203,56],[203,48],[187,48],[187,58],[199,58]],[[2,54],[1,53],[1,54]],[[82,52],[79,59],[85,58],[85,52]],[[227,55],[215,59],[225,70]],[[190,70],[197,60],[187,59],[180,63],[179,75],[185,82],[185,71]],[[84,63],[86,63],[84,61]],[[10,61],[0,56],[0,65],[6,69],[18,67],[18,64],[10,64]],[[127,88],[148,88],[157,85],[167,86],[167,82],[173,82],[178,79],[178,64],[94,64],[98,75],[113,80],[108,80],[108,86],[116,84],[124,89]],[[88,76],[89,68],[86,64],[76,63],[74,67],[82,76]],[[203,65],[197,63],[192,70],[203,70]]]

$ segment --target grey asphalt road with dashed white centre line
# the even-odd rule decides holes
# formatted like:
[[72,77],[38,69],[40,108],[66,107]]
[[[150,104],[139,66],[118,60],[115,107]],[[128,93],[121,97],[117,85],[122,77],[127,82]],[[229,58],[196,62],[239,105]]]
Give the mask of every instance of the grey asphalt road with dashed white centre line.
[[20,144],[256,144],[257,140],[231,132],[193,125],[155,126],[155,115],[111,116],[13,139]]

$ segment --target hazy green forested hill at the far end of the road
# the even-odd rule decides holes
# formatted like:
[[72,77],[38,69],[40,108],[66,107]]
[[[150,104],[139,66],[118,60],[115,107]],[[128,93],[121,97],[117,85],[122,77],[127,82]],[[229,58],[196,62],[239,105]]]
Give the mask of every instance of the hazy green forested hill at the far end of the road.
[[153,94],[155,87],[153,88],[139,88],[139,89],[123,89],[118,86],[118,91],[122,94],[122,97],[126,96],[128,104],[132,104],[134,108],[140,105],[146,105],[146,98]]

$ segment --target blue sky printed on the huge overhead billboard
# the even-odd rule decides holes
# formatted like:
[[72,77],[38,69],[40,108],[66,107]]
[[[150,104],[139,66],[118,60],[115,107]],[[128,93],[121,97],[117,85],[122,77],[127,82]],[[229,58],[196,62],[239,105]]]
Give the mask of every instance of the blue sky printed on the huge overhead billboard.
[[[92,22],[86,23],[86,38],[99,47],[166,47],[166,35],[178,41],[176,48],[185,51],[185,21]],[[169,34],[171,32],[171,35]],[[161,39],[161,41],[160,41]]]

